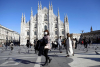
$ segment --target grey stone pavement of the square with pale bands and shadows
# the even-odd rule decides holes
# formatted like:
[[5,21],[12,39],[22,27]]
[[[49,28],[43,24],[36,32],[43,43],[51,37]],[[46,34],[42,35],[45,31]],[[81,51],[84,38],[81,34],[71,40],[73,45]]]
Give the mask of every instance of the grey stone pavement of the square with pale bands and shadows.
[[[52,49],[48,54],[52,61],[44,67],[100,67],[100,44],[92,44],[88,49],[78,45],[72,57],[66,57],[65,49],[62,53]],[[14,46],[13,51],[0,47],[0,67],[43,67],[44,62],[45,57],[35,54],[34,47]]]

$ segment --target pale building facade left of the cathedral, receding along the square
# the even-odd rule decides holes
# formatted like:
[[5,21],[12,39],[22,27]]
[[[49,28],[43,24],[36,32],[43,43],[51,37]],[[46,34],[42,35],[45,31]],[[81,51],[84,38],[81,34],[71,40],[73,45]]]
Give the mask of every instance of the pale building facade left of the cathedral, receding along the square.
[[6,42],[19,42],[19,34],[0,25],[0,45]]

